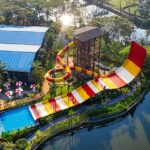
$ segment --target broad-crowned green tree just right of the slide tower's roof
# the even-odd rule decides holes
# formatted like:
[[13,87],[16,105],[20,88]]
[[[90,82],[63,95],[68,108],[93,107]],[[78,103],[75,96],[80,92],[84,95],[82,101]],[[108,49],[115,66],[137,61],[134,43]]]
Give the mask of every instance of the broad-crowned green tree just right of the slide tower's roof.
[[90,25],[101,28],[107,49],[109,49],[108,43],[111,40],[126,43],[133,31],[133,24],[127,19],[118,16],[96,17],[92,19]]

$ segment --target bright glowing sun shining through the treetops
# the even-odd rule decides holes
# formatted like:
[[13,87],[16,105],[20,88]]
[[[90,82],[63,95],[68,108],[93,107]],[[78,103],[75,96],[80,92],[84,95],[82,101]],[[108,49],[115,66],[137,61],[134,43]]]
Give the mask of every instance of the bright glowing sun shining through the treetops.
[[62,15],[60,21],[63,26],[73,26],[73,16],[72,15]]

